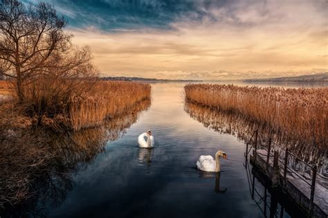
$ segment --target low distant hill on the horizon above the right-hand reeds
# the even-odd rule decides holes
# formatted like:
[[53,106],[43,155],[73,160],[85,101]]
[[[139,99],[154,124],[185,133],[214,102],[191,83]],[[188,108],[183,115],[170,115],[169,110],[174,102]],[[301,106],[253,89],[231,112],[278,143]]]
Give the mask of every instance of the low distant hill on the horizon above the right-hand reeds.
[[249,79],[244,82],[328,82],[328,72],[283,78]]

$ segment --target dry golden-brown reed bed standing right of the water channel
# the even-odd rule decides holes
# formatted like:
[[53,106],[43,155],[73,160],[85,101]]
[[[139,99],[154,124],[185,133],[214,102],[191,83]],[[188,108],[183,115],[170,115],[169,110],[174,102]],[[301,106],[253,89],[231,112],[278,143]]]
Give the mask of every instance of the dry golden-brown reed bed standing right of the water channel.
[[[188,84],[188,101],[219,111],[238,113],[268,125],[306,161],[321,162],[328,150],[328,88],[284,89]],[[321,161],[318,160],[321,159]]]

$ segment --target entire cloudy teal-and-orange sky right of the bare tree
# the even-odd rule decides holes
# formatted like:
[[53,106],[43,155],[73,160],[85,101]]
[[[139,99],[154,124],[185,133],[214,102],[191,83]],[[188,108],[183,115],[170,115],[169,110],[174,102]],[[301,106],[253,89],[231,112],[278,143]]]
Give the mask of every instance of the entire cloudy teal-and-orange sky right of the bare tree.
[[328,71],[328,0],[45,1],[66,17],[73,43],[91,47],[102,75],[231,80]]

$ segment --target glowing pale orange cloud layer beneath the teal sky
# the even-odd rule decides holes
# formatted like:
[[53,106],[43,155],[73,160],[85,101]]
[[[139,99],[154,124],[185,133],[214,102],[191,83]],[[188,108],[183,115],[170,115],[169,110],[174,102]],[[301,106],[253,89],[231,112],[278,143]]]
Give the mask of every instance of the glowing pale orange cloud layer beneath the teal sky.
[[307,1],[278,2],[250,8],[242,2],[233,15],[215,9],[214,21],[186,17],[172,30],[70,31],[76,44],[91,46],[95,64],[108,75],[181,78],[199,72],[216,78],[215,72],[234,72],[220,74],[230,79],[328,71],[327,15]]

